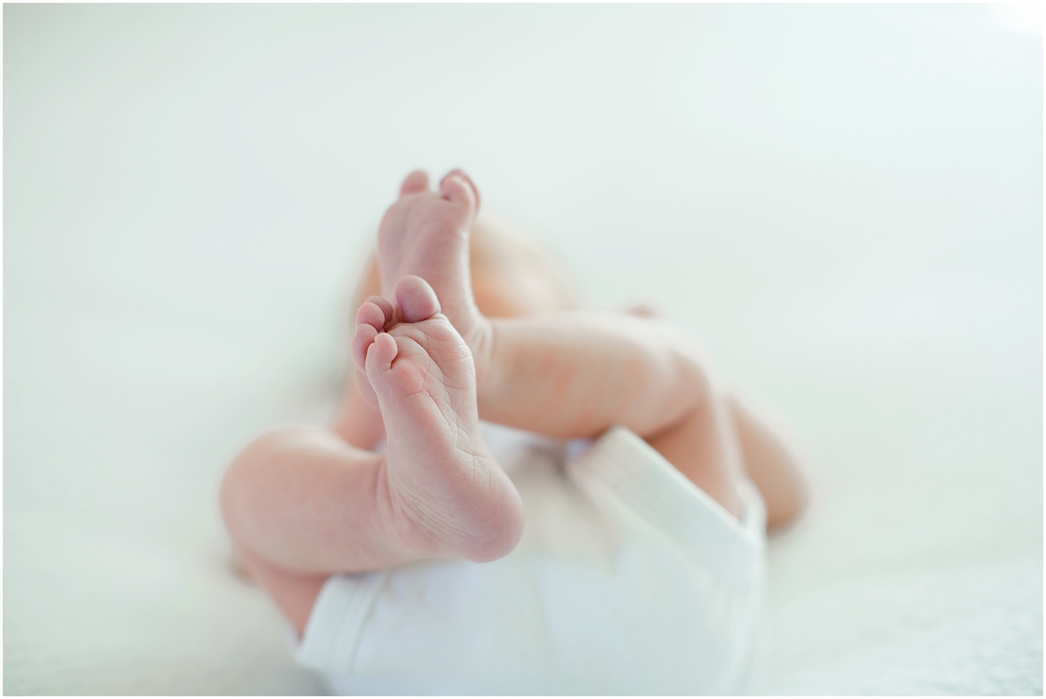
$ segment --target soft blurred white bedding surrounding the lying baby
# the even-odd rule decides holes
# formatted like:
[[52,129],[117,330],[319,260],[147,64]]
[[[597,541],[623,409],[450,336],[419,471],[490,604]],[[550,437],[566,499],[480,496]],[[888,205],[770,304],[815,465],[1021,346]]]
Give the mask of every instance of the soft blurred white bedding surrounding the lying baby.
[[760,688],[1041,694],[1042,38],[982,6],[4,7],[4,692],[309,694],[222,469],[462,165],[805,456]]

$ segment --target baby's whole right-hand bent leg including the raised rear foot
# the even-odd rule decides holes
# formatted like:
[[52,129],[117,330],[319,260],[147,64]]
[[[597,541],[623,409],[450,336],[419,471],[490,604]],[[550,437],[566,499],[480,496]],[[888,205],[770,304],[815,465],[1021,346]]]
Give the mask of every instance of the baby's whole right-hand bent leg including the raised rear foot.
[[381,278],[427,279],[472,349],[479,415],[564,438],[620,424],[643,437],[731,512],[742,465],[732,421],[685,336],[650,319],[565,312],[487,319],[470,283],[479,194],[455,170],[432,192],[404,183],[379,232]]

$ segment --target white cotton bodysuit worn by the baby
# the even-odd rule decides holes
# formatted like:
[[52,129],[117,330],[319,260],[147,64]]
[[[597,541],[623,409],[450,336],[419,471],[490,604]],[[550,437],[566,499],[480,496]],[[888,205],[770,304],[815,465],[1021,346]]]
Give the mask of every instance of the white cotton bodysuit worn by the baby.
[[493,429],[526,508],[516,550],[332,577],[298,661],[338,694],[741,691],[761,602],[755,488],[738,522],[622,427],[579,455]]

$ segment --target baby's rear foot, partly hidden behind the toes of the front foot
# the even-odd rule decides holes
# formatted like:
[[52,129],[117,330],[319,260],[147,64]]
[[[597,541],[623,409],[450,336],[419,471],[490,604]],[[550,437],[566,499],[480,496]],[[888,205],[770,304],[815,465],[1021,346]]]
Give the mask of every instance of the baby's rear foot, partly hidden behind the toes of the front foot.
[[416,171],[404,181],[378,232],[382,294],[391,298],[407,275],[425,279],[474,353],[486,329],[469,266],[469,234],[478,210],[479,190],[461,170],[444,177],[437,192],[429,190],[428,174]]

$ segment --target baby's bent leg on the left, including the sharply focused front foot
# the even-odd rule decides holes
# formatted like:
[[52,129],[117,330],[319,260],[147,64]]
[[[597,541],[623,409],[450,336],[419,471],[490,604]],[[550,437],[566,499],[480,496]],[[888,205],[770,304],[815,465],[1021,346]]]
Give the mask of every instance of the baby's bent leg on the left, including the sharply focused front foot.
[[426,282],[408,277],[395,293],[397,320],[376,298],[360,309],[354,341],[387,456],[309,427],[248,446],[222,487],[226,525],[248,562],[322,575],[434,557],[493,560],[519,540],[522,504],[480,437],[468,346]]

